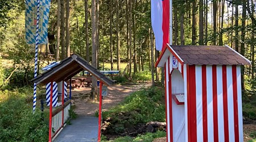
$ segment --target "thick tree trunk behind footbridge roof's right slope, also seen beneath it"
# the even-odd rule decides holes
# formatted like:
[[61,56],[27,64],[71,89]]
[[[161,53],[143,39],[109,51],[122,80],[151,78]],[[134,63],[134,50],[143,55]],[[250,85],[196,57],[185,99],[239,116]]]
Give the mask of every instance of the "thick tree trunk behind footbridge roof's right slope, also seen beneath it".
[[[97,25],[96,25],[96,0],[92,0],[92,66],[97,68]],[[92,99],[97,95],[97,78],[92,77]]]

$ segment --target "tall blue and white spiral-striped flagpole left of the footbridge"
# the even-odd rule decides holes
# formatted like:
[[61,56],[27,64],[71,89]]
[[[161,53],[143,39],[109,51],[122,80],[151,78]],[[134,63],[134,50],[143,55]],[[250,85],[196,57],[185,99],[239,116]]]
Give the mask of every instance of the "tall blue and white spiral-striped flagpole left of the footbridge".
[[[39,7],[40,7],[40,0],[38,0],[38,10],[37,10],[37,14],[36,14],[37,17],[36,17],[36,46],[35,46],[35,72],[34,72],[34,77],[36,77],[38,75]],[[35,112],[35,108],[36,108],[36,83],[34,83],[33,112]]]

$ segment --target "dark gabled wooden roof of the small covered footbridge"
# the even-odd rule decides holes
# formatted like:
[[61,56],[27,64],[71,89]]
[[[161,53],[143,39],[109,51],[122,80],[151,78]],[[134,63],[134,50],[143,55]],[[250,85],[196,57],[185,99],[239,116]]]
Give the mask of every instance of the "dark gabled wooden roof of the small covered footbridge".
[[51,81],[67,81],[82,70],[87,70],[98,80],[104,82],[105,85],[112,85],[112,83],[114,83],[113,80],[111,80],[109,77],[106,77],[105,74],[100,72],[100,70],[94,68],[89,64],[89,62],[85,61],[82,57],[76,54],[73,54],[71,57],[67,57],[56,66],[53,66],[51,69],[40,74],[38,77],[31,81],[36,84],[46,84]]

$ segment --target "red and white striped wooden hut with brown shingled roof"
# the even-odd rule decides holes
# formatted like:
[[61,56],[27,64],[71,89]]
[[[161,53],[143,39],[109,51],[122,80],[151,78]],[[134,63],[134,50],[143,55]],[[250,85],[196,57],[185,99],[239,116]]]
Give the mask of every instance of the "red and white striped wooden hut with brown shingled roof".
[[241,65],[225,46],[166,45],[167,141],[243,141]]

